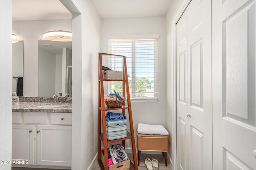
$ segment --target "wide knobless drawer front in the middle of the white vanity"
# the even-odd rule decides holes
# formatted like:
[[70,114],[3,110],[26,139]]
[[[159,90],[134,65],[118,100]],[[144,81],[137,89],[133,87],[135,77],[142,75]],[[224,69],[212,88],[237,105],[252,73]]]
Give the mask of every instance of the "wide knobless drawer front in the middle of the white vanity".
[[24,123],[47,124],[47,112],[24,112]]

